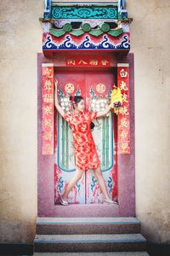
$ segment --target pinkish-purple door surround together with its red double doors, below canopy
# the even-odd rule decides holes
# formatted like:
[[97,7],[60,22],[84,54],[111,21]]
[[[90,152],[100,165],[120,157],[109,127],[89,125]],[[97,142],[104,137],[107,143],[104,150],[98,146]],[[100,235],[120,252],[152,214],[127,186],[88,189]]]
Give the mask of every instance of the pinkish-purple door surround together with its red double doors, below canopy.
[[[111,56],[111,66],[105,68],[65,67],[65,62],[59,62],[64,59],[67,60],[65,55],[61,55],[58,61],[54,58],[48,62],[48,59],[41,54],[38,55],[38,217],[133,217],[135,214],[133,55],[124,58],[124,63],[120,64],[121,67],[117,64],[119,59]],[[46,65],[47,79],[44,79],[42,73],[44,65]],[[69,95],[82,95],[87,108],[99,111],[112,85],[120,84],[119,70],[122,71],[122,68],[125,70],[127,65],[130,67],[130,153],[120,154],[119,148],[122,144],[118,140],[120,137],[119,122],[120,119],[127,118],[127,113],[118,116],[110,113],[108,117],[94,120],[95,127],[92,131],[108,192],[117,203],[113,205],[103,203],[103,195],[101,195],[94,171],[88,170],[71,191],[69,206],[59,205],[59,195],[62,195],[65,186],[75,172],[74,152],[71,129],[54,110],[51,112],[51,122],[54,119],[54,125],[50,126],[52,129],[54,127],[54,131],[51,131],[54,136],[53,153],[42,154],[45,139],[42,130],[45,124],[42,119],[45,109],[43,104],[46,99],[43,96],[43,88],[45,83],[51,82],[50,79],[53,80],[48,71],[53,70],[54,67],[54,78],[59,81],[59,96],[68,99]],[[122,79],[125,74],[123,73]],[[123,82],[121,83],[123,85]],[[47,92],[44,93],[47,94]],[[63,103],[63,106],[67,108],[65,104],[67,102]],[[47,114],[45,118],[49,119]],[[122,125],[126,124],[122,123]]]

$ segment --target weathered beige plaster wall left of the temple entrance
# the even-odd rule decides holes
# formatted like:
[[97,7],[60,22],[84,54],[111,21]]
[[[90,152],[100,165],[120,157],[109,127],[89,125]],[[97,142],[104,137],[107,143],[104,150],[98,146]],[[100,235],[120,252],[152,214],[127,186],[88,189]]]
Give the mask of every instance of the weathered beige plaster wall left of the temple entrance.
[[0,1],[0,241],[32,241],[35,233],[42,10],[42,1]]

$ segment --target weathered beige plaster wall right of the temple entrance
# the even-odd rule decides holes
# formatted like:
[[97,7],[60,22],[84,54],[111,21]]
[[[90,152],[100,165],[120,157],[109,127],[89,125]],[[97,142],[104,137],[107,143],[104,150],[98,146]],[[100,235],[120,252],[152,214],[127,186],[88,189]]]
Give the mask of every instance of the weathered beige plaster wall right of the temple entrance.
[[137,217],[152,241],[170,242],[170,2],[127,0],[127,10],[135,58]]

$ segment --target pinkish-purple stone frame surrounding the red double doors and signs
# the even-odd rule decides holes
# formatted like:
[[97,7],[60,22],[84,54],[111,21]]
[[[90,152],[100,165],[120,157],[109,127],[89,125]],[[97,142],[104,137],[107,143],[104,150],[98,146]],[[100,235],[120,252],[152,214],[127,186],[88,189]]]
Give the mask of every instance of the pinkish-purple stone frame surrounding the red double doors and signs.
[[[62,58],[61,58],[62,59]],[[118,154],[118,205],[54,206],[54,155],[42,155],[42,63],[54,63],[37,54],[37,216],[38,217],[134,217],[135,152],[134,152],[134,80],[133,54],[111,56],[111,66],[129,63],[130,67],[130,148],[131,154]],[[62,67],[62,61],[60,61]],[[64,66],[64,65],[63,65]],[[58,67],[59,68],[59,67]],[[68,67],[69,68],[69,67]],[[98,69],[99,70],[99,69]],[[102,69],[101,69],[102,70]]]

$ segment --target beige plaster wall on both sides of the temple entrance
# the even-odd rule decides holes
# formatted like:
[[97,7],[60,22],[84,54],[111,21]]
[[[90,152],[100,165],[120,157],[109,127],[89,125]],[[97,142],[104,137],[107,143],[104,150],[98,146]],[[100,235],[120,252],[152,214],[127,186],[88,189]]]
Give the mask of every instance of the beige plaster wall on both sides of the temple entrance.
[[[170,7],[127,0],[135,55],[136,208],[144,235],[170,241]],[[33,241],[37,218],[37,52],[42,0],[0,1],[0,241]]]

